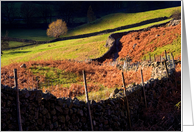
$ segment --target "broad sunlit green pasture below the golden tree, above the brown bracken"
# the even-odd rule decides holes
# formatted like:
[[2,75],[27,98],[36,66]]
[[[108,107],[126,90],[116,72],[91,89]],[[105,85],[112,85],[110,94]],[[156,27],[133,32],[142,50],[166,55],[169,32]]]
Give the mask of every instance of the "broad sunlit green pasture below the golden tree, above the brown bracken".
[[1,66],[9,65],[12,62],[26,62],[30,60],[45,59],[77,59],[84,60],[96,58],[103,55],[108,48],[105,48],[106,39],[109,34],[93,36],[88,38],[74,39],[53,42],[38,46],[28,46],[23,49],[3,51]]

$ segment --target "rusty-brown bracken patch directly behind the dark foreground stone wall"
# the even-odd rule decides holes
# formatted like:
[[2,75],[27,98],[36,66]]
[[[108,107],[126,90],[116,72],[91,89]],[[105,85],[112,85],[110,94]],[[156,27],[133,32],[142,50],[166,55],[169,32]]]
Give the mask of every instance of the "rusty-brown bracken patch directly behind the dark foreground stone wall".
[[[121,71],[116,67],[112,66],[99,66],[96,64],[87,64],[87,63],[79,63],[73,62],[68,60],[58,60],[58,61],[30,61],[25,63],[27,68],[20,68],[22,63],[14,63],[9,66],[5,66],[1,68],[1,82],[2,84],[11,84],[13,86],[14,82],[13,79],[9,79],[8,75],[13,76],[13,69],[18,69],[18,76],[19,76],[19,87],[20,88],[27,88],[28,86],[37,87],[37,80],[36,75],[33,75],[32,72],[28,69],[31,66],[48,66],[48,67],[55,67],[66,72],[76,73],[77,75],[82,75],[82,70],[86,72],[86,79],[88,84],[89,91],[98,91],[99,85],[102,84],[105,87],[112,88],[112,87],[122,87],[122,78],[121,78]],[[144,68],[144,81],[148,80],[151,77],[152,68]],[[127,71],[124,72],[126,84],[131,83],[141,83],[140,78],[140,68],[137,72],[135,71]],[[43,75],[39,75],[41,78],[40,82],[45,81],[45,77]],[[29,80],[30,79],[30,80]],[[9,82],[10,81],[10,82]],[[81,80],[82,81],[82,80]],[[83,82],[83,81],[82,81]],[[57,97],[61,96],[77,96],[84,94],[83,85],[72,84],[70,88],[60,88],[60,86],[50,87],[51,93],[53,93]],[[48,89],[47,89],[48,90]],[[81,90],[81,91],[79,91]],[[76,92],[73,92],[76,91]],[[62,95],[61,93],[64,93]]]

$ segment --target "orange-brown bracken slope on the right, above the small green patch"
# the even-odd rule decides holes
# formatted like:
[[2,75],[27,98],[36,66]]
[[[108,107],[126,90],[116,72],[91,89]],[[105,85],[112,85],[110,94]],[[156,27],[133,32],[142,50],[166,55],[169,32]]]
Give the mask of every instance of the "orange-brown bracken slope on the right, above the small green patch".
[[[176,26],[151,28],[148,31],[132,32],[120,39],[122,49],[119,58],[129,56],[132,62],[141,61],[141,58],[157,47],[171,44],[181,35],[181,23]],[[133,49],[133,45],[137,44]]]

